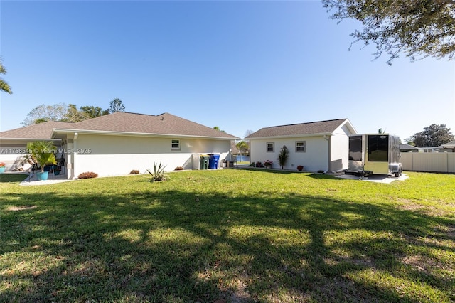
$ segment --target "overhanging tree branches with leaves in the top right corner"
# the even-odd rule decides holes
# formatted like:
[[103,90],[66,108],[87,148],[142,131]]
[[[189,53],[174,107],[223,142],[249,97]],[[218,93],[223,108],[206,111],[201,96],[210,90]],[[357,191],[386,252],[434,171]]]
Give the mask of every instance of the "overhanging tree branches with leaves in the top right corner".
[[[362,30],[354,42],[376,44],[376,58],[387,53],[391,64],[399,53],[412,60],[433,56],[454,58],[454,0],[322,0],[333,19],[355,18]],[[352,44],[351,44],[352,46]]]

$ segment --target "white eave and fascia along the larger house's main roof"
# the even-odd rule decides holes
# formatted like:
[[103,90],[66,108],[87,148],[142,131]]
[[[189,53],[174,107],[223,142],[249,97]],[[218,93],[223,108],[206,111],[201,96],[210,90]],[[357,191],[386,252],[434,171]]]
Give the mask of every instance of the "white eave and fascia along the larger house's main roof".
[[113,132],[105,130],[87,130],[87,129],[53,129],[52,137],[62,138],[65,134],[99,134],[105,136],[131,136],[131,137],[162,137],[162,138],[195,138],[195,139],[212,139],[212,140],[226,140],[231,141],[239,139],[237,137],[208,137],[208,136],[195,136],[186,134],[151,134],[147,132]]

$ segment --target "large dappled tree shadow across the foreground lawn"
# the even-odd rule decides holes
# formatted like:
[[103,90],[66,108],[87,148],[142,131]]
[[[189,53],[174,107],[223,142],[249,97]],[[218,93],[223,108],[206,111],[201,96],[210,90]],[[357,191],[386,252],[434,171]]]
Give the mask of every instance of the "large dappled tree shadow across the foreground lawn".
[[[429,301],[455,299],[453,275],[417,270],[406,259],[455,253],[444,241],[454,240],[442,228],[454,226],[446,218],[298,194],[26,193],[21,204],[37,207],[2,210],[6,301],[426,299],[380,283],[385,276],[427,285],[436,293]],[[373,272],[371,279],[363,272]]]

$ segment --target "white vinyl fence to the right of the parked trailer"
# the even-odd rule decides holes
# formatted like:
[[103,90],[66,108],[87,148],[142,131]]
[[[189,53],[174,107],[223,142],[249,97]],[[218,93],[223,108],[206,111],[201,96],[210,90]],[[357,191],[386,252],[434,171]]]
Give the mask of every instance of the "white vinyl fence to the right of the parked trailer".
[[401,163],[405,171],[455,173],[455,153],[451,152],[405,152]]

